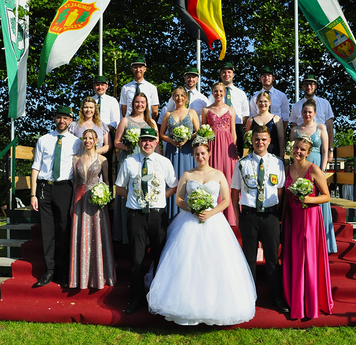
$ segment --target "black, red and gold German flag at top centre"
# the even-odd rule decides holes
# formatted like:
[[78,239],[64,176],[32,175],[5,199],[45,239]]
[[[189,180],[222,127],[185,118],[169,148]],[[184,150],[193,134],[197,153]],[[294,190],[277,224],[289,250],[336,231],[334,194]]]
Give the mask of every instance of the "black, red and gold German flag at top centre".
[[226,53],[226,36],[221,12],[221,0],[177,0],[182,20],[191,35],[209,44],[220,39],[222,49],[219,60]]

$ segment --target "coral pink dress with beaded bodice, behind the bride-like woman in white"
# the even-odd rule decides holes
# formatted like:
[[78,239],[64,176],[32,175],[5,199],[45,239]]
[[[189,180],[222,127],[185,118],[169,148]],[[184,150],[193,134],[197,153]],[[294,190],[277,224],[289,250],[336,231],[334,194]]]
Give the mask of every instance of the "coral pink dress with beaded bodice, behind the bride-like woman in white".
[[[209,110],[207,112],[207,123],[212,127],[212,130],[215,133],[215,140],[209,141],[211,151],[209,165],[224,172],[230,188],[231,178],[236,163],[236,150],[230,132],[230,111],[228,110],[225,114],[219,117],[217,114]],[[219,197],[218,203],[220,203],[220,201]],[[224,215],[231,226],[236,225],[235,212],[231,202],[229,207],[224,210]]]

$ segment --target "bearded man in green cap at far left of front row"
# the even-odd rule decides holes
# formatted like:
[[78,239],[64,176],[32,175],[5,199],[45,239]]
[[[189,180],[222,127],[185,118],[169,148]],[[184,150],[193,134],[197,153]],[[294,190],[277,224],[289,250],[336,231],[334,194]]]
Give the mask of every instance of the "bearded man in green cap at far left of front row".
[[82,141],[67,129],[73,121],[72,109],[58,106],[54,115],[55,131],[38,139],[31,174],[31,205],[40,211],[43,252],[47,272],[35,285],[47,285],[55,269],[55,224],[60,251],[57,253],[58,279],[68,284],[70,204],[72,201],[73,156]]

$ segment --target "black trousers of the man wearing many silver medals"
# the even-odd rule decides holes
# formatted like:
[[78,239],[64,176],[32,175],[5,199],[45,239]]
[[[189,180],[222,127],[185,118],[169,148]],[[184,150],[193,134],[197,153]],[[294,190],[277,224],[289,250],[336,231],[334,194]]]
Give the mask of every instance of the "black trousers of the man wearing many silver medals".
[[150,239],[154,257],[154,275],[156,274],[161,252],[166,244],[168,217],[165,209],[160,212],[144,213],[141,210],[128,210],[127,236],[130,247],[131,298],[145,297],[143,260],[145,257],[147,236]]

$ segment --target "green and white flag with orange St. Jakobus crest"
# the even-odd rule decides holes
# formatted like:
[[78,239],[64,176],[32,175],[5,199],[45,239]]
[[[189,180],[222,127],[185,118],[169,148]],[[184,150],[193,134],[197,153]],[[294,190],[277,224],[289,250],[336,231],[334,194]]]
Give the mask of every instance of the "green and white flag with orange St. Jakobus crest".
[[63,1],[43,43],[38,87],[48,72],[72,59],[109,3],[110,0]]

